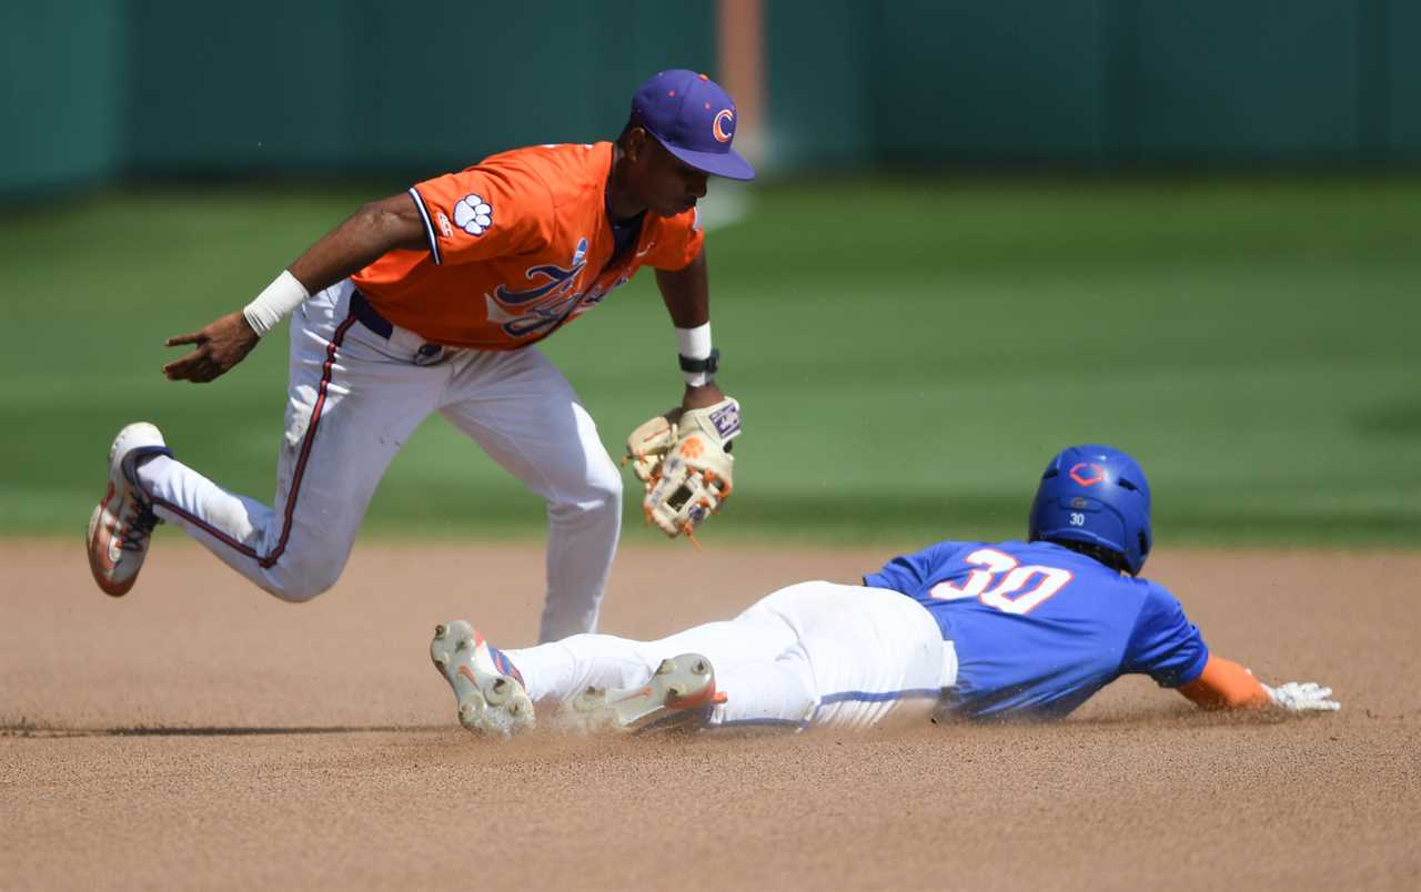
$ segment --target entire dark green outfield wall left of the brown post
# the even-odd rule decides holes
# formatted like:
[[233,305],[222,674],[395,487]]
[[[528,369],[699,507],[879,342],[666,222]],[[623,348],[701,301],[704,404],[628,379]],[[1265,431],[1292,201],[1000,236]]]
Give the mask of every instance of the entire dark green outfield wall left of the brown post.
[[712,70],[713,33],[712,0],[7,0],[0,193],[607,138],[649,72]]

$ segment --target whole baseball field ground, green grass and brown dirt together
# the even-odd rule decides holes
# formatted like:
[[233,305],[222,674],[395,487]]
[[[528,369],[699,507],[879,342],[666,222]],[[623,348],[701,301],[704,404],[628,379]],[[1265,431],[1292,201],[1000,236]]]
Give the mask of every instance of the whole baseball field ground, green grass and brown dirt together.
[[[270,499],[286,328],[203,388],[162,341],[405,185],[0,219],[0,889],[1421,888],[1421,180],[756,189],[708,243],[735,497],[698,554],[628,486],[603,619],[658,636],[1020,535],[1050,455],[1107,442],[1154,486],[1147,575],[1340,713],[1127,679],[1056,726],[509,744],[458,726],[428,642],[530,643],[543,506],[441,419],[313,604],[166,527],[121,601],[82,554],[131,420]],[[672,351],[649,277],[547,344],[614,453],[678,399]]]

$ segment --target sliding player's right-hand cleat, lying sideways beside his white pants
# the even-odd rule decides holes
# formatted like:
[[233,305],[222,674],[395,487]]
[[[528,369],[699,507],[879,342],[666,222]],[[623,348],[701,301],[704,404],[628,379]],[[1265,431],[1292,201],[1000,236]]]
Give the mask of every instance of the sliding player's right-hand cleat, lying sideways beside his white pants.
[[699,653],[661,660],[637,687],[587,687],[563,702],[556,723],[564,730],[649,731],[703,726],[710,709],[725,703],[715,689],[715,669]]

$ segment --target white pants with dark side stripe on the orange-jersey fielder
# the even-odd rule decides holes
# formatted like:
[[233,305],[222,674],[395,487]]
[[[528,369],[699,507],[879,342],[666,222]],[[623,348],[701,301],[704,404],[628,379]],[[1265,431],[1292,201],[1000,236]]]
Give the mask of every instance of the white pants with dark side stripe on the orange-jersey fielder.
[[445,349],[442,362],[418,365],[425,341],[399,327],[389,338],[371,331],[351,312],[352,293],[350,281],[333,285],[291,320],[274,508],[158,457],[138,472],[158,517],[279,598],[306,601],[340,578],[385,469],[439,412],[547,500],[540,641],[595,629],[621,531],[621,474],[571,385],[531,347]]

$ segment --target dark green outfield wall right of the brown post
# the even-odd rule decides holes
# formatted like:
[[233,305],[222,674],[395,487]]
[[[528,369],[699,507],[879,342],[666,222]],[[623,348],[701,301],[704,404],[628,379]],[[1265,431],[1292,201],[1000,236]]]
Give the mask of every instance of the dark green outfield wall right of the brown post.
[[793,161],[1421,159],[1414,0],[770,0]]

